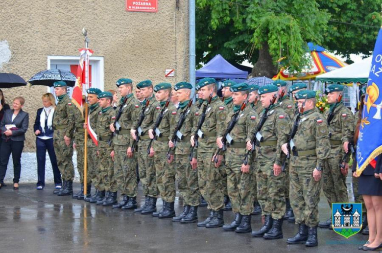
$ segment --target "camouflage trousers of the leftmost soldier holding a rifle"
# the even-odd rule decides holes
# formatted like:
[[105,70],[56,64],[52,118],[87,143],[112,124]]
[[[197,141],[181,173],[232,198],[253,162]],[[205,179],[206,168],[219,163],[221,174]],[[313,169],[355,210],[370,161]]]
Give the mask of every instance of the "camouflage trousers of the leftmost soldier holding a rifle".
[[114,144],[114,177],[120,194],[136,197],[137,184],[137,155],[127,157],[128,146]]

